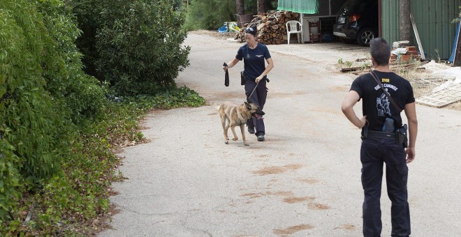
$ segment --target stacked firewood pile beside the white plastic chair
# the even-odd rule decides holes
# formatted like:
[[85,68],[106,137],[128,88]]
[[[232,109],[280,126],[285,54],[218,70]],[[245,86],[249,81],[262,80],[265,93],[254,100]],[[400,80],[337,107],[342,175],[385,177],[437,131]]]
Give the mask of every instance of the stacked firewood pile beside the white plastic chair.
[[[250,26],[258,27],[258,42],[265,45],[280,45],[288,42],[286,36],[286,22],[289,20],[299,20],[299,13],[290,11],[277,11],[256,15],[250,23],[244,24],[240,31],[235,35],[239,42],[245,42],[245,29]],[[293,34],[293,39],[296,35]]]

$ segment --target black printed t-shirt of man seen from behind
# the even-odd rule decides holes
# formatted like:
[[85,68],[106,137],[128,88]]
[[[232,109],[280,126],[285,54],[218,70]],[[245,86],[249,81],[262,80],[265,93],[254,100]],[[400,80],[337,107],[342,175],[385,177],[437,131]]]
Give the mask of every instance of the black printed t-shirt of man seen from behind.
[[[415,102],[413,88],[410,82],[394,72],[379,72],[374,70],[378,79],[381,79],[384,89],[395,100],[400,108]],[[367,116],[369,130],[381,131],[386,118],[392,117],[395,128],[402,126],[402,117],[397,108],[392,105],[386,93],[369,73],[357,77],[351,86],[351,91],[357,91],[363,99],[363,115]]]

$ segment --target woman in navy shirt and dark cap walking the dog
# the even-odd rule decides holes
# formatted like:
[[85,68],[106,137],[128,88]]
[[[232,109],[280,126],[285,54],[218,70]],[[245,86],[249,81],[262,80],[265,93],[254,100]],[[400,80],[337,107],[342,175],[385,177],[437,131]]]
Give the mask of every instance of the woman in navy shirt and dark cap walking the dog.
[[[274,63],[270,57],[269,49],[265,45],[258,43],[258,34],[256,26],[251,26],[245,31],[245,40],[247,44],[238,49],[235,59],[224,66],[224,70],[232,68],[239,61],[244,62],[244,85],[247,98],[251,94],[249,100],[258,105],[259,109],[263,109],[265,99],[268,96],[268,88],[266,87],[266,75],[274,68]],[[265,61],[268,62],[268,67],[265,67]],[[256,86],[256,89],[255,89]],[[255,133],[259,142],[264,141],[265,128],[263,119],[252,118],[247,121],[248,132]]]

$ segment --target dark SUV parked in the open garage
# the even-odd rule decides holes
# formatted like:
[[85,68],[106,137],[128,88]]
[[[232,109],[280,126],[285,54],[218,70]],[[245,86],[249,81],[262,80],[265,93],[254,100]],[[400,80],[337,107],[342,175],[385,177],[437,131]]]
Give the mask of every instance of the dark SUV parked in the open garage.
[[333,34],[344,41],[357,40],[361,46],[378,36],[378,1],[347,0],[339,9]]

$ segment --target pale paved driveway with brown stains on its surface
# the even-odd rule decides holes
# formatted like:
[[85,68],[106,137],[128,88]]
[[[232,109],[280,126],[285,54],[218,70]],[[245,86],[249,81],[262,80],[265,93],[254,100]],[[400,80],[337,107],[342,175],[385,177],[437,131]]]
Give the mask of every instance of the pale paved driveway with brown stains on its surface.
[[[125,148],[111,198],[120,213],[101,236],[360,236],[360,130],[340,104],[353,80],[335,72],[366,49],[341,44],[269,45],[275,68],[265,106],[266,141],[223,142],[215,107],[243,102],[240,63],[224,86],[221,65],[239,44],[190,33],[180,73],[205,97],[200,108],[154,111],[151,140]],[[342,48],[342,49],[338,49]],[[420,134],[409,165],[412,236],[461,236],[461,112],[418,105]],[[357,107],[360,112],[360,107]],[[239,132],[237,132],[237,135]],[[390,201],[383,187],[383,236]]]

